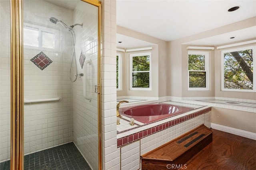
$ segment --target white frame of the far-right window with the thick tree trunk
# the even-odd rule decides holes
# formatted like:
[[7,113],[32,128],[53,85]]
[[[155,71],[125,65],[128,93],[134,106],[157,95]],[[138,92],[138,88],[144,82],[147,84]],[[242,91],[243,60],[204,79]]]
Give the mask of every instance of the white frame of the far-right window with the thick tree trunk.
[[[226,89],[224,88],[224,53],[229,53],[232,51],[241,51],[245,49],[253,49],[252,55],[253,55],[253,90],[248,89]],[[221,91],[231,91],[231,92],[256,92],[256,55],[255,55],[255,46],[248,46],[248,47],[241,47],[241,48],[233,48],[229,50],[223,50],[221,51]]]

